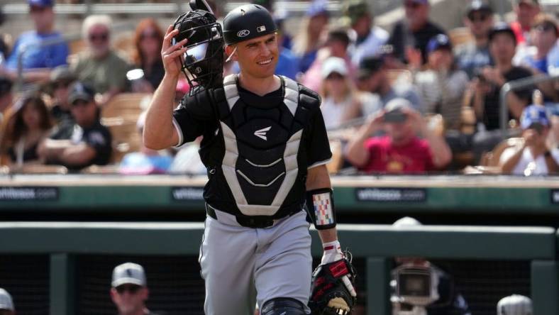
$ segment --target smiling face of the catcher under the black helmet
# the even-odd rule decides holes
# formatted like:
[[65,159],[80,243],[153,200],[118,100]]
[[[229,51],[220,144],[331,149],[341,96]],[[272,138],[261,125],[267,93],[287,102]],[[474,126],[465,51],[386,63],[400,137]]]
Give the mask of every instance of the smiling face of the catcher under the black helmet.
[[240,42],[235,53],[240,72],[262,79],[270,77],[275,72],[280,55],[277,35],[270,34]]

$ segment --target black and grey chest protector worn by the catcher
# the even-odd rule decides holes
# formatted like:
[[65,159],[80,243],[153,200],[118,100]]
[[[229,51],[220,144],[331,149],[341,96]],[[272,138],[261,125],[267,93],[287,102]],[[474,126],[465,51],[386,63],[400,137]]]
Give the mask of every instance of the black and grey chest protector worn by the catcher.
[[300,205],[300,200],[288,200],[288,195],[302,196],[306,176],[298,154],[309,110],[299,104],[297,82],[282,77],[282,95],[267,98],[240,93],[231,74],[223,79],[223,91],[226,101],[218,105],[225,147],[221,171],[240,213],[278,216],[287,205]]

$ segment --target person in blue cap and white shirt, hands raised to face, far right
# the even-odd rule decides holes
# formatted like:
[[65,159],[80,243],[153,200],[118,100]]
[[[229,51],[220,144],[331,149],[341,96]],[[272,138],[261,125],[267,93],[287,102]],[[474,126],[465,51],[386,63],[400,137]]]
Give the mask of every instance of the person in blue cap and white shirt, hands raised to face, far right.
[[559,150],[550,150],[546,145],[550,130],[546,108],[541,105],[526,107],[520,125],[524,141],[503,151],[499,159],[502,172],[524,176],[559,172]]

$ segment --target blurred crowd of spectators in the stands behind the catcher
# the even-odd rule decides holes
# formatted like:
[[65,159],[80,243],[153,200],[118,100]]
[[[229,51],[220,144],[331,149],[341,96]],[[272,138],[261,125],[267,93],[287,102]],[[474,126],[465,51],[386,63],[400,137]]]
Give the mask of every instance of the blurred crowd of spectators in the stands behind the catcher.
[[[343,165],[369,173],[457,172],[480,164],[504,138],[519,137],[521,148],[505,150],[499,170],[558,171],[557,80],[507,94],[509,124],[505,134],[500,128],[505,83],[558,73],[558,23],[537,0],[513,0],[511,23],[496,22],[489,4],[472,0],[463,13],[470,37],[459,45],[454,30],[430,15],[428,0],[402,0],[404,18],[391,30],[375,24],[367,1],[343,1],[340,16],[328,11],[328,1],[314,0],[294,34],[287,33],[290,20],[281,8],[256,2],[269,6],[278,26],[277,74],[321,94],[324,121],[331,140],[341,143]],[[103,125],[103,109],[118,94],[157,89],[165,74],[160,23],[140,21],[130,38],[132,49],[123,52],[112,45],[111,18],[88,16],[82,23],[86,48],[70,55],[54,29],[55,1],[28,0],[28,5],[34,29],[13,45],[0,46],[1,163],[13,170],[46,163],[76,171],[118,164],[111,153],[116,135]],[[224,67],[225,74],[238,71],[235,62]],[[15,94],[17,79],[27,92]],[[179,82],[177,101],[187,92],[188,84]],[[534,100],[534,92],[542,96]],[[540,121],[526,123],[524,117],[536,111]],[[122,160],[121,172],[204,173],[192,154],[196,142],[163,153],[141,143],[138,148]],[[539,165],[536,172],[528,170],[530,160]]]

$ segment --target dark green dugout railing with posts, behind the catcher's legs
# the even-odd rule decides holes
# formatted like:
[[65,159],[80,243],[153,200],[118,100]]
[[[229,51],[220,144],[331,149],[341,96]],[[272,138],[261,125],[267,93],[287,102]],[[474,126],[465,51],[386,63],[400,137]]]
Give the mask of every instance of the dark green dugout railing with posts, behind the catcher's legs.
[[[197,256],[203,223],[5,222],[0,255],[48,255],[49,314],[73,315],[79,255]],[[548,227],[338,226],[354,258],[364,258],[367,314],[389,315],[389,270],[397,256],[429,259],[527,260],[534,314],[559,314],[559,233]],[[316,231],[313,255],[320,257]],[[110,275],[106,275],[110,277]],[[149,277],[149,275],[148,275]]]

